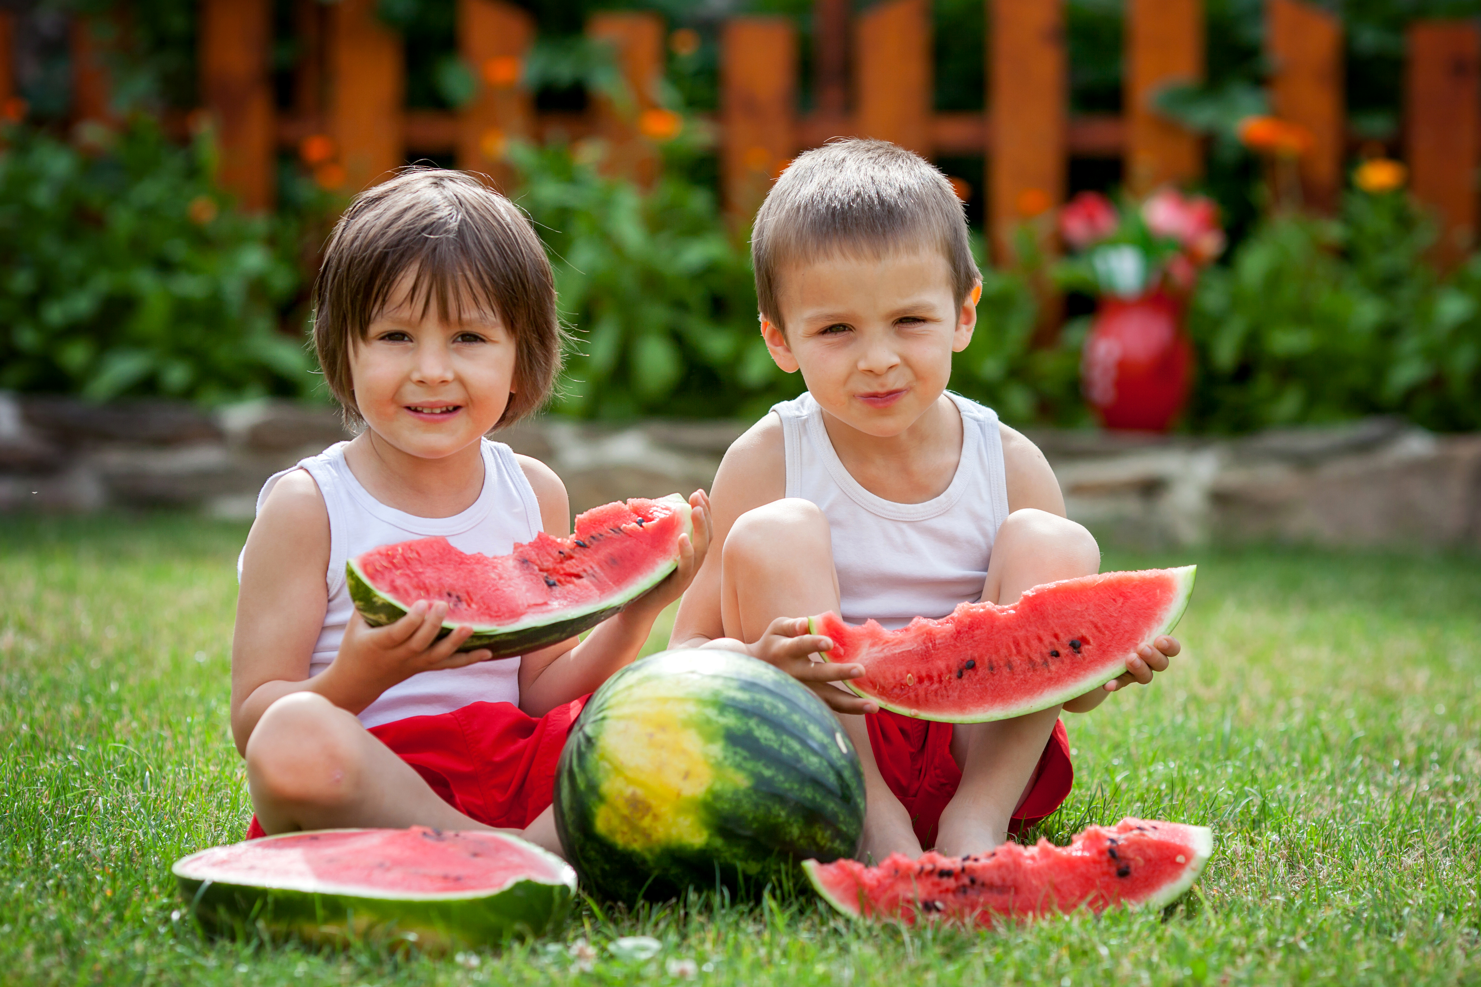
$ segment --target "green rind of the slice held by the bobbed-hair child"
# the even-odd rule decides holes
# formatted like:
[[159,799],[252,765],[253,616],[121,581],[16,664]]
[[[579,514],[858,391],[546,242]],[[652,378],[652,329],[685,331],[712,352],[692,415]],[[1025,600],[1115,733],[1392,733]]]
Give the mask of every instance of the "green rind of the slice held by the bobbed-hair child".
[[[680,494],[668,494],[666,497],[659,497],[655,503],[665,503],[678,512],[680,524],[683,525],[680,533],[687,534],[690,539],[695,537],[693,518],[689,512],[689,502],[684,500],[684,497]],[[560,613],[546,611],[511,624],[472,624],[472,633],[458,650],[475,651],[478,648],[487,648],[493,651],[493,658],[509,658],[517,654],[529,654],[530,651],[560,644],[567,638],[575,638],[576,635],[595,627],[607,617],[628,607],[638,596],[668,579],[668,576],[677,568],[678,556],[675,555],[662,565],[658,565],[638,579],[631,580],[619,592],[594,599],[584,607]],[[364,621],[372,627],[384,627],[395,623],[404,617],[406,611],[410,608],[410,604],[404,604],[390,593],[382,593],[372,586],[369,577],[366,577],[366,574],[360,570],[355,559],[345,562],[345,583],[348,585],[350,599],[354,601],[355,610],[360,611],[360,616],[364,617]],[[464,624],[444,620],[443,629],[437,632],[437,636],[446,638],[459,626]]]

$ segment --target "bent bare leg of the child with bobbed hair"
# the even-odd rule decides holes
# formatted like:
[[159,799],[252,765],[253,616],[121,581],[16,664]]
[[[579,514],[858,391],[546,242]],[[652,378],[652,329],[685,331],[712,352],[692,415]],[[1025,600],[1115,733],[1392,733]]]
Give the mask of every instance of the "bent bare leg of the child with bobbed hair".
[[[247,740],[246,758],[252,806],[268,833],[341,826],[493,829],[443,802],[354,715],[314,693],[273,703]],[[523,833],[504,832],[560,852],[549,809]]]

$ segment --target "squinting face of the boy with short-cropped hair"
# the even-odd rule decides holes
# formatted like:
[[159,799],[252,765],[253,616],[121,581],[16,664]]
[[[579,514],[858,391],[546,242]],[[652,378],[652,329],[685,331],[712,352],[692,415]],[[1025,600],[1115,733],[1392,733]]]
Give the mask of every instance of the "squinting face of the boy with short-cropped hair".
[[825,411],[881,438],[899,435],[936,402],[951,379],[951,355],[966,349],[977,324],[973,300],[952,297],[951,269],[937,250],[789,265],[780,289],[786,333],[761,326],[776,366],[801,370]]

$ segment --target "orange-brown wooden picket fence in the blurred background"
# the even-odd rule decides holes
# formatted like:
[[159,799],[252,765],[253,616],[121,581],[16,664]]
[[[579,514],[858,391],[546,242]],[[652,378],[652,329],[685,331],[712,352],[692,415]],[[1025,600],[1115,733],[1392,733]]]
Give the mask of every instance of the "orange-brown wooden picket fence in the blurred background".
[[[456,0],[458,43],[477,75],[459,112],[406,110],[404,56],[376,18],[376,0],[299,0],[296,34],[308,55],[292,111],[274,108],[270,77],[273,0],[200,0],[200,92],[219,135],[221,181],[243,203],[273,203],[280,149],[317,148],[320,167],[363,188],[409,157],[456,157],[459,167],[507,178],[514,136],[601,135],[618,167],[650,178],[656,154],[643,136],[655,110],[666,31],[649,12],[595,15],[588,34],[609,40],[637,105],[594,99],[585,114],[536,112],[521,86],[535,41],[529,13],[504,0]],[[1068,56],[1060,0],[983,0],[991,19],[986,112],[935,112],[929,0],[883,0],[852,16],[850,0],[816,0],[815,104],[797,105],[797,28],[783,18],[729,21],[721,36],[720,135],[724,197],[749,216],[800,149],[838,135],[895,141],[926,155],[983,154],[986,209],[998,249],[1026,215],[1059,203],[1071,157],[1121,157],[1133,191],[1198,178],[1201,141],[1152,108],[1158,90],[1204,70],[1201,0],[1127,0],[1124,115],[1068,114]],[[9,37],[0,13],[0,41]],[[1330,209],[1349,151],[1342,98],[1342,24],[1302,0],[1266,0],[1274,111],[1314,136],[1302,158],[1306,201]],[[99,41],[74,31],[76,111],[107,114]],[[0,46],[0,98],[12,89],[10,46]],[[847,50],[847,56],[846,56]],[[852,78],[846,65],[852,61]],[[1413,192],[1442,220],[1442,259],[1474,244],[1481,163],[1481,34],[1469,21],[1428,21],[1407,37],[1403,154]],[[312,142],[317,141],[317,142]],[[338,169],[338,170],[336,170]]]

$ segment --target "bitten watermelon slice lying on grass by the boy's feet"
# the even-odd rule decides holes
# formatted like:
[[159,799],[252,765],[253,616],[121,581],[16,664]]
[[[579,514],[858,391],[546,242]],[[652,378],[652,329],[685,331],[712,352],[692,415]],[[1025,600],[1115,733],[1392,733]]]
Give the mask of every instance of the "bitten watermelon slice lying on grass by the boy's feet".
[[911,860],[892,854],[877,867],[857,860],[803,863],[828,904],[856,919],[915,925],[946,920],[992,925],[998,916],[1029,917],[1118,904],[1161,907],[1192,886],[1213,854],[1206,826],[1127,817],[1091,826],[1069,846],[1004,843],[976,857],[935,851]]

